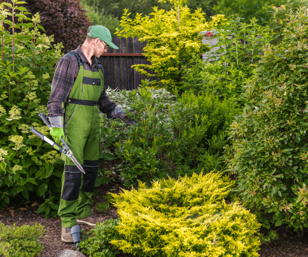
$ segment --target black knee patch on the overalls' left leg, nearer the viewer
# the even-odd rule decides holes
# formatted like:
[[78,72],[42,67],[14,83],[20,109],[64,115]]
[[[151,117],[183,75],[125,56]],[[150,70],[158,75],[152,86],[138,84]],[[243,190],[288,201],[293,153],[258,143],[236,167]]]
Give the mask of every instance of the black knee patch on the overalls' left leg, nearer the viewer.
[[81,171],[74,165],[64,165],[64,184],[61,199],[75,201],[79,197]]

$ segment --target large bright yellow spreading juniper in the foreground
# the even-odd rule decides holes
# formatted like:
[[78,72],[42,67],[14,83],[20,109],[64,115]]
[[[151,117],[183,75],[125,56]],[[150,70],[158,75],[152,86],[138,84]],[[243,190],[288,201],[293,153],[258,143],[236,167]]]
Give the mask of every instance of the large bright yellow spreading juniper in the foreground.
[[225,202],[232,187],[211,172],[112,194],[120,222],[110,243],[138,256],[259,256],[260,225],[237,202]]

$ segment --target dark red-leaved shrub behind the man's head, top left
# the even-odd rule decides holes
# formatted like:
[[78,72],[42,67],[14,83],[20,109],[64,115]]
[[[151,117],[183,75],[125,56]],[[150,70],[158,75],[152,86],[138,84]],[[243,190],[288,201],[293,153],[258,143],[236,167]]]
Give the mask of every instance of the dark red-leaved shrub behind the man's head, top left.
[[23,6],[31,15],[40,14],[46,35],[55,35],[55,42],[63,43],[64,53],[70,52],[86,39],[87,29],[92,26],[80,0],[26,0]]

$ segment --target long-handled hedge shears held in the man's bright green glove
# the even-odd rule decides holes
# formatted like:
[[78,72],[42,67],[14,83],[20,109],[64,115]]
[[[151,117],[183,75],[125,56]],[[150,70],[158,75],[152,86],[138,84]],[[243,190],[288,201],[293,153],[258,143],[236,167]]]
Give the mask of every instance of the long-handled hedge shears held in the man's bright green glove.
[[[43,113],[40,113],[39,116],[41,117],[43,122],[45,122],[46,126],[51,128],[50,122],[47,120],[46,116]],[[68,158],[70,158],[73,161],[73,163],[79,168],[79,170],[81,170],[81,172],[86,174],[83,167],[76,160],[76,158],[74,157],[71,149],[67,146],[67,143],[64,141],[64,139],[62,137],[61,137],[60,141],[62,142],[63,147],[59,146],[57,143],[53,142],[48,137],[44,136],[41,132],[37,131],[33,126],[31,126],[30,130],[34,135],[37,135],[40,139],[49,143],[53,148],[55,148],[56,150],[64,153]]]

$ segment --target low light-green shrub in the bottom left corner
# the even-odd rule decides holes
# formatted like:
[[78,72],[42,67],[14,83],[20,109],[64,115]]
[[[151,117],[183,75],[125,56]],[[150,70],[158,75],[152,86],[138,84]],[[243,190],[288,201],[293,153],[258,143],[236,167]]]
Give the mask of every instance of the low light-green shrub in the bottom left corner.
[[0,223],[0,257],[35,257],[43,250],[37,241],[45,233],[44,227],[35,223],[34,226],[23,225],[13,227]]

